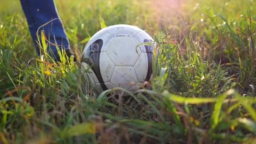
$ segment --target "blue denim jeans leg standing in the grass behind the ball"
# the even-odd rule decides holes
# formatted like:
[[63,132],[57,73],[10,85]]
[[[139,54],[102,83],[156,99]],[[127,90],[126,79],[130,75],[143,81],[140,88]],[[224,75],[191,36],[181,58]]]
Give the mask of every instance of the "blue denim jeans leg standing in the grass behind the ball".
[[[41,37],[41,31],[44,30],[48,43],[47,51],[52,53],[55,60],[59,61],[59,54],[56,49],[58,45],[60,50],[69,50],[69,40],[64,31],[61,20],[53,0],[20,0],[24,14],[27,18],[29,31],[35,43],[38,55],[40,47],[37,43],[38,36]],[[53,20],[54,19],[54,20]],[[51,22],[50,22],[51,21]],[[49,22],[49,23],[48,23]],[[48,23],[48,24],[46,24]],[[44,25],[46,24],[46,25]],[[44,26],[43,26],[44,25]],[[41,27],[43,26],[43,27]],[[41,38],[39,39],[41,40]]]

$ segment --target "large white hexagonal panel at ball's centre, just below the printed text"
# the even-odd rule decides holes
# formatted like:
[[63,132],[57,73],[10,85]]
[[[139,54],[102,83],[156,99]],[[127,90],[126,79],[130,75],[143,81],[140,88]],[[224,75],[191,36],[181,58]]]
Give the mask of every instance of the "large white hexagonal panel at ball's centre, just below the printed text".
[[132,37],[116,37],[107,49],[107,53],[115,66],[133,66],[137,61],[140,49]]

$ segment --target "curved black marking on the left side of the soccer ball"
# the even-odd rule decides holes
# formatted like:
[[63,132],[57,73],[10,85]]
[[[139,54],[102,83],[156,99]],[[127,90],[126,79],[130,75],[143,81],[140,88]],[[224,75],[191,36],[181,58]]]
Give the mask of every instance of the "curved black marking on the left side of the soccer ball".
[[85,53],[83,53],[81,62],[85,62],[91,67],[97,79],[99,80],[101,88],[105,91],[107,90],[107,86],[105,85],[104,80],[101,76],[100,61],[99,61],[102,45],[103,45],[103,40],[101,39],[95,40],[88,47],[88,49],[85,50]]

